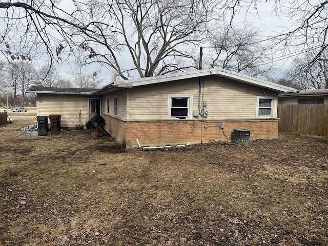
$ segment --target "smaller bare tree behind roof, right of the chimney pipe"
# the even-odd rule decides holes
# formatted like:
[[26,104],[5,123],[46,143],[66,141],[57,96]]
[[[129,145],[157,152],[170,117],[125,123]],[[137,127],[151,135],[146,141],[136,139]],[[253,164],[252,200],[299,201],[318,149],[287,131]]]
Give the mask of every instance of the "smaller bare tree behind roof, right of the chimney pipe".
[[220,67],[251,76],[268,76],[273,69],[272,49],[270,46],[263,47],[259,36],[259,30],[251,25],[245,25],[243,29],[232,25],[214,28],[209,33],[210,54],[204,59],[208,60],[211,68]]

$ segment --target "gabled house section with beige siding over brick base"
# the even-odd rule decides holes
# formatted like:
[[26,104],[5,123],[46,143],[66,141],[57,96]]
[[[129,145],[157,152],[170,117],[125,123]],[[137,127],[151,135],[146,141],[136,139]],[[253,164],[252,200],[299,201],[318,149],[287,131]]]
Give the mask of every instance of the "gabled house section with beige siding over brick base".
[[[93,93],[105,129],[126,148],[231,141],[234,129],[251,139],[278,137],[278,93],[297,90],[206,69],[115,81]],[[55,99],[55,98],[54,98]]]

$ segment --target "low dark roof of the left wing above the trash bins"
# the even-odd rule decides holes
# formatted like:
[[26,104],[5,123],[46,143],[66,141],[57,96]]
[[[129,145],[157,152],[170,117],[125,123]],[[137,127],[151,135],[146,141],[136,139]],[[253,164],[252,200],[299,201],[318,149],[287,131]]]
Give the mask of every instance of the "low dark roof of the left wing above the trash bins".
[[92,95],[95,91],[97,91],[97,89],[31,86],[25,92],[27,92],[27,93],[40,93],[40,94]]

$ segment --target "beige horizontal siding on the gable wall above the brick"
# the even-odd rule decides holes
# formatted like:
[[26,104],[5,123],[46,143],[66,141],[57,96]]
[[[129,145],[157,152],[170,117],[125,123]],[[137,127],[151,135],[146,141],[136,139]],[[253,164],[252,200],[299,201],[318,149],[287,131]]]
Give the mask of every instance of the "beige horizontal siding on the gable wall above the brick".
[[[130,120],[167,120],[168,95],[193,95],[193,107],[198,109],[198,79],[173,81],[133,88],[129,95]],[[207,119],[255,119],[257,96],[276,96],[275,92],[263,94],[262,88],[216,76],[203,79],[201,102],[207,101]]]

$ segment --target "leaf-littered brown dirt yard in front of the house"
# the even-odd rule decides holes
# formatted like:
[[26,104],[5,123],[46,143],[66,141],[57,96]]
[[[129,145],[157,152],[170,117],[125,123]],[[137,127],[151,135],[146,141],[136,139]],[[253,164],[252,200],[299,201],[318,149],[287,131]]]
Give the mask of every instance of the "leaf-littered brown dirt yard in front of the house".
[[121,148],[0,127],[0,245],[328,245],[328,138]]

